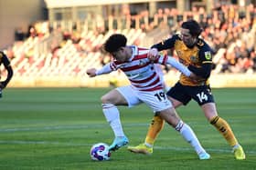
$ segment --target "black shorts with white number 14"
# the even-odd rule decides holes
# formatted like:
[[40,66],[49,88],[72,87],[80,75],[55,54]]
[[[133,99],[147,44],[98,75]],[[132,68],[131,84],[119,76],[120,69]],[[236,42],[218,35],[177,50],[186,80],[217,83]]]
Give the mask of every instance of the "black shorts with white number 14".
[[188,86],[177,82],[166,94],[183,103],[183,105],[187,105],[192,98],[197,101],[198,105],[214,103],[209,85]]

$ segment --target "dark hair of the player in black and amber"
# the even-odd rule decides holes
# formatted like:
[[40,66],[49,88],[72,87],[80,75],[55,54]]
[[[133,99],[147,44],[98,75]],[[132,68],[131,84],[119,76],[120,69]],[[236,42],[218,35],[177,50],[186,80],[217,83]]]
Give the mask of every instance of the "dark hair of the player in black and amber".
[[182,23],[181,25],[182,28],[188,29],[189,30],[189,34],[192,36],[199,36],[203,29],[201,28],[201,26],[197,23],[197,21],[191,19],[188,20],[184,23]]

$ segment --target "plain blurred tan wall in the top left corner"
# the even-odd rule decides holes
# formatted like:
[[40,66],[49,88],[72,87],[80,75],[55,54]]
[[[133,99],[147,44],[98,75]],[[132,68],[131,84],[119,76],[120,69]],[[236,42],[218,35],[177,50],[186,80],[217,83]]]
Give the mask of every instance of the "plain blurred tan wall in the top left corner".
[[[27,33],[28,26],[46,20],[44,0],[0,0],[0,49],[12,45],[17,33]],[[22,35],[20,35],[22,36]]]

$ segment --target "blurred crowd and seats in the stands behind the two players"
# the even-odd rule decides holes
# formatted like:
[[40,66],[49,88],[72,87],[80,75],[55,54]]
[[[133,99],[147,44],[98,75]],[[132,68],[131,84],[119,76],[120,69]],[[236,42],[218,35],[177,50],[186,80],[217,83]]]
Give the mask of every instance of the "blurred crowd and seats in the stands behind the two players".
[[103,24],[106,21],[101,22],[100,27],[96,25],[92,30],[88,25],[72,25],[72,29],[68,30],[61,25],[49,26],[48,22],[31,26],[27,38],[16,41],[5,50],[11,59],[15,75],[82,76],[88,65],[101,67],[111,59],[110,55],[101,51],[101,45],[112,33],[126,35],[129,45],[143,45],[147,34],[152,30],[167,27],[170,35],[174,35],[180,24],[191,18],[202,25],[202,38],[214,50],[214,73],[256,72],[254,5],[247,5],[244,9],[240,9],[238,5],[219,5],[210,15],[203,7],[193,7],[184,14],[179,14],[175,8],[159,9],[152,18],[147,11],[137,15],[124,11],[124,20],[111,17],[112,19],[106,20],[107,24]]

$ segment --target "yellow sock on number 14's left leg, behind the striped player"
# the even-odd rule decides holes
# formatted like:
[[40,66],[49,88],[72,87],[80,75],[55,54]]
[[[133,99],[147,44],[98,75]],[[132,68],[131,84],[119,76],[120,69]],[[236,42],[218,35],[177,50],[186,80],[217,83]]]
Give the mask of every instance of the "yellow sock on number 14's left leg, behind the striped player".
[[154,145],[155,139],[159,132],[163,129],[165,121],[158,115],[152,119],[151,125],[148,127],[147,135],[145,137],[145,144]]

